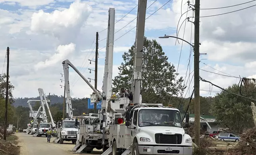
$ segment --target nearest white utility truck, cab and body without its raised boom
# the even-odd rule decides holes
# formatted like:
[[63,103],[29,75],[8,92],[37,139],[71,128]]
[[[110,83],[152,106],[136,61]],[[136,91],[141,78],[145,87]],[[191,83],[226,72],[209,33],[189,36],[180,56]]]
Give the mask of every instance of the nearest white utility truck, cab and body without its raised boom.
[[128,110],[125,123],[110,125],[111,148],[103,154],[192,155],[192,139],[185,134],[179,110],[146,105]]

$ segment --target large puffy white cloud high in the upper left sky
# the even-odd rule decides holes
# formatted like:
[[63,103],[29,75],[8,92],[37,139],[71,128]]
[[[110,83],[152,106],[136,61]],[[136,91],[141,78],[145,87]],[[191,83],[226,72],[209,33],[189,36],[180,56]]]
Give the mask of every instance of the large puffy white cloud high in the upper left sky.
[[31,30],[53,35],[61,43],[74,41],[92,11],[91,6],[76,0],[70,8],[46,13],[39,10],[31,17]]

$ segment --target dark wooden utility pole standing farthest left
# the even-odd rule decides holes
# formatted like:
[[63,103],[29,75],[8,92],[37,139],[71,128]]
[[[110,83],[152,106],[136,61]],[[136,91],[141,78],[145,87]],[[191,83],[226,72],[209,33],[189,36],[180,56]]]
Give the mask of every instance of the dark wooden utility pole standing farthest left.
[[9,89],[9,54],[10,49],[7,47],[7,71],[6,71],[6,96],[5,96],[5,114],[4,114],[4,140],[6,140],[7,132],[7,111],[8,111],[8,89]]

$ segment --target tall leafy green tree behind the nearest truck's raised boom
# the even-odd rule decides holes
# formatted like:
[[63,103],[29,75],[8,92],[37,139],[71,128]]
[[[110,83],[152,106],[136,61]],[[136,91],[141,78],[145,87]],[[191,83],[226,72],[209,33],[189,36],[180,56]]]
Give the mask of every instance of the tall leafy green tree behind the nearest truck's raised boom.
[[[118,76],[113,80],[114,93],[118,93],[122,87],[130,91],[134,49],[135,45],[132,45],[131,49],[122,55],[124,62],[118,67]],[[141,89],[143,102],[155,102],[166,95],[176,96],[182,93],[183,78],[176,79],[174,83],[175,72],[174,65],[168,62],[161,45],[156,40],[144,37]]]

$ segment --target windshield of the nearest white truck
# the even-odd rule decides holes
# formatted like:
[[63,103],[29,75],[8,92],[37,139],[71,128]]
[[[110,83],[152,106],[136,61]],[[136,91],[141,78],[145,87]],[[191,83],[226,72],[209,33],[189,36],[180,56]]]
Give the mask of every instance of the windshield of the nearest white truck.
[[139,111],[139,127],[168,126],[182,128],[180,112],[177,110],[142,109]]

